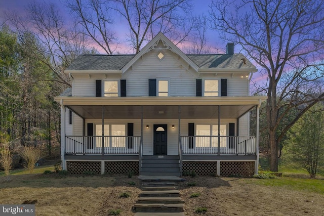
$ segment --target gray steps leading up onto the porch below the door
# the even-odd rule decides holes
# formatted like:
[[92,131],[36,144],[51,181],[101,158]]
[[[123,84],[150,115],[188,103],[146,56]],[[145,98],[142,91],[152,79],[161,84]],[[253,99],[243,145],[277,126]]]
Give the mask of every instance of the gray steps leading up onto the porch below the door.
[[141,175],[181,176],[178,155],[143,155]]

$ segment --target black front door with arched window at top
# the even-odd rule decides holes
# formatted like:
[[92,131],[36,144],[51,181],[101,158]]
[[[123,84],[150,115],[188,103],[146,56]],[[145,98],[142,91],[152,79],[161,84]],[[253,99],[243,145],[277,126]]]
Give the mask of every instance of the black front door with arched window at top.
[[167,155],[167,124],[154,124],[154,155]]

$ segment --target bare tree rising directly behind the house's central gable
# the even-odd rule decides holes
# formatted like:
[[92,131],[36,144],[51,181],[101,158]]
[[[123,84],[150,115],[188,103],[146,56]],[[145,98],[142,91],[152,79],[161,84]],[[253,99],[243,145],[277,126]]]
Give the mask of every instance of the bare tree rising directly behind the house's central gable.
[[169,36],[175,44],[186,40],[192,29],[192,22],[179,11],[189,14],[188,0],[112,0],[114,9],[129,26],[127,35],[132,48],[140,52],[145,41],[151,40],[158,32]]

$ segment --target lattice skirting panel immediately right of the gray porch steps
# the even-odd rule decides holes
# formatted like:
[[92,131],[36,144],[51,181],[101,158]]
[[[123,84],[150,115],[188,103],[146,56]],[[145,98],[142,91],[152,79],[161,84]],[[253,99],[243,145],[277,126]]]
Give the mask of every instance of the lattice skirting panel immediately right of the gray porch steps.
[[191,172],[192,170],[198,176],[210,176],[217,173],[217,162],[194,162],[194,161],[183,161],[182,171],[183,174],[186,172]]

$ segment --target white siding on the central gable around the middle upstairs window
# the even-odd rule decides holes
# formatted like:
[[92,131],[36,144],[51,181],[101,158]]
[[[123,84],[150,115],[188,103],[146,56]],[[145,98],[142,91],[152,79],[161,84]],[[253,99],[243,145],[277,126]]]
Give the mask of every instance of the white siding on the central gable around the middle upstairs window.
[[143,59],[134,64],[133,69],[123,75],[127,79],[127,96],[148,96],[148,79],[169,80],[169,96],[195,96],[196,77],[174,53],[163,50],[161,52],[165,57],[159,60],[156,57],[159,52],[145,54]]

